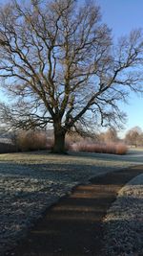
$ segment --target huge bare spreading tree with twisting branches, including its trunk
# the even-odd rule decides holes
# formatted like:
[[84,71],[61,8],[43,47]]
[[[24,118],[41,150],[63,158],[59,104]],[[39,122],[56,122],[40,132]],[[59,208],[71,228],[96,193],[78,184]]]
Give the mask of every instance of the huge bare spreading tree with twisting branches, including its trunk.
[[142,50],[141,31],[113,47],[92,2],[10,1],[0,10],[0,77],[14,104],[1,105],[2,116],[15,128],[51,123],[53,151],[64,152],[72,128],[123,120],[118,101],[142,91]]

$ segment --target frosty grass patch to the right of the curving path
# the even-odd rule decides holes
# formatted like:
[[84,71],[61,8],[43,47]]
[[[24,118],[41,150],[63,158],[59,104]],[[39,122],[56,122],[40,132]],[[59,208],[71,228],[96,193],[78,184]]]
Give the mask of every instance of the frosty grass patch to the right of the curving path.
[[143,255],[143,175],[134,177],[119,191],[104,223],[105,255]]

